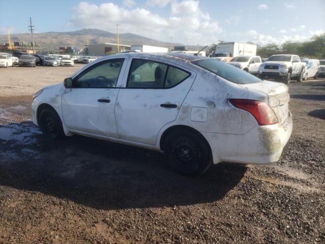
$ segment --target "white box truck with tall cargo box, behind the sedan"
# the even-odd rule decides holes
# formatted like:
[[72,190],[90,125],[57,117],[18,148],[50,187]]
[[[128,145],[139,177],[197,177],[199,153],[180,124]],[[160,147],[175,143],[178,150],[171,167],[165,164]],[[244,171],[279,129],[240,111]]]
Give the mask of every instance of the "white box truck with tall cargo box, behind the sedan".
[[210,57],[256,56],[257,45],[243,42],[225,42],[216,46]]

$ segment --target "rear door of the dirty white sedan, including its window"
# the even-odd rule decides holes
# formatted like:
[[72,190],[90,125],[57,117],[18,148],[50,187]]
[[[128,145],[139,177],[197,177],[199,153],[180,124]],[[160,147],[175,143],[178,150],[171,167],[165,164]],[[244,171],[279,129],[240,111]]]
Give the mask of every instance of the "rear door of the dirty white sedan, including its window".
[[117,97],[121,139],[155,145],[158,132],[174,121],[196,77],[191,70],[159,59],[134,57]]

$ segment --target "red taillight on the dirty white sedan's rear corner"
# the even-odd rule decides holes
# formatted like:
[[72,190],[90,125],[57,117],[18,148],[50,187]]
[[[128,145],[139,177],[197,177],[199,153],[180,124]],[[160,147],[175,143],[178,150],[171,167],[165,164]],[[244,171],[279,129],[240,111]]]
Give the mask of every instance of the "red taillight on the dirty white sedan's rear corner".
[[273,109],[266,103],[250,99],[229,99],[236,108],[250,112],[257,120],[258,125],[267,126],[279,123]]

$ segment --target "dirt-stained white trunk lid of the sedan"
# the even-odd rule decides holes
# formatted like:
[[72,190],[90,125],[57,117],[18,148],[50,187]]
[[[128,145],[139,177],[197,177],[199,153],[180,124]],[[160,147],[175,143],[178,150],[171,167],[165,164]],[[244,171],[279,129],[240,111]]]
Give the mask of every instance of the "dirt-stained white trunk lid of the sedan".
[[290,96],[288,87],[285,84],[264,80],[257,83],[241,84],[241,86],[266,94],[268,96],[268,105],[276,113],[279,123],[282,125],[286,121],[289,113]]

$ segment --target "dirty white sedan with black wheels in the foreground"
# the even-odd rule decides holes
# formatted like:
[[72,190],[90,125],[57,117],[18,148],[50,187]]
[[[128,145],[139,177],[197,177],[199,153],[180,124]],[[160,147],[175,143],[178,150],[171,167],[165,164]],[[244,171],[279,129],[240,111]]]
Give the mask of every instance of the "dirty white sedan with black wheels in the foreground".
[[208,57],[123,53],[34,94],[51,138],[79,134],[165,151],[181,174],[277,161],[293,128],[286,85]]

